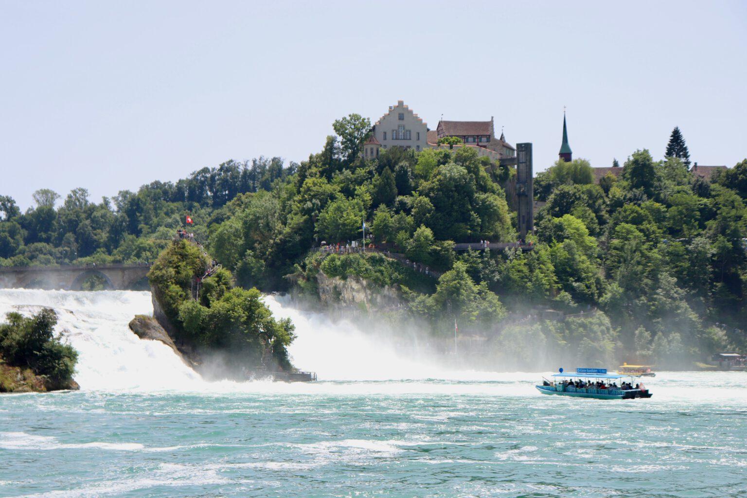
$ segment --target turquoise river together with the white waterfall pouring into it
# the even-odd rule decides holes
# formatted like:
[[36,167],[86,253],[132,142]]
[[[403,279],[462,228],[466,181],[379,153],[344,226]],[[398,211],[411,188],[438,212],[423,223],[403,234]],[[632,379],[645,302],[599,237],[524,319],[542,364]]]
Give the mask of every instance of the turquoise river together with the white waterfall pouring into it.
[[[58,311],[82,387],[0,396],[1,497],[747,497],[746,373],[660,373],[652,399],[544,396],[541,373],[414,364],[268,296],[323,380],[208,383],[128,332],[149,299],[0,290],[1,313]],[[362,349],[340,367],[338,347]]]

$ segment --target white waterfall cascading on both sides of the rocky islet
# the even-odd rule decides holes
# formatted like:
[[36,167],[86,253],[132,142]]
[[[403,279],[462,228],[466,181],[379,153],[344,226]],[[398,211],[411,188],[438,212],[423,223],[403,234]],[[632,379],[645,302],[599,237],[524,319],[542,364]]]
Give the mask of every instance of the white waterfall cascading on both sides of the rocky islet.
[[[287,296],[264,296],[264,301],[276,317],[291,318],[296,326],[297,339],[289,348],[293,363],[301,370],[317,372],[323,381],[493,380],[496,376],[449,372],[431,361],[405,358],[395,346],[382,340],[381,334],[363,331],[358,324],[347,320],[334,321],[322,313],[301,311]],[[57,312],[56,332],[62,332],[63,340],[78,351],[75,380],[83,390],[308,392],[317,389],[311,385],[270,382],[205,382],[168,346],[141,340],[129,329],[128,323],[136,314],[152,315],[149,292],[0,289],[0,320],[9,311],[30,315],[42,307]],[[528,378],[522,375],[521,379]],[[357,388],[360,387],[354,389]],[[380,388],[383,387],[374,390]],[[420,388],[433,390],[424,385]],[[396,390],[413,389],[418,387],[410,383]]]

